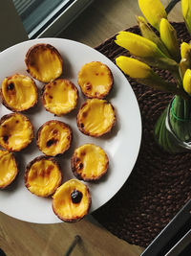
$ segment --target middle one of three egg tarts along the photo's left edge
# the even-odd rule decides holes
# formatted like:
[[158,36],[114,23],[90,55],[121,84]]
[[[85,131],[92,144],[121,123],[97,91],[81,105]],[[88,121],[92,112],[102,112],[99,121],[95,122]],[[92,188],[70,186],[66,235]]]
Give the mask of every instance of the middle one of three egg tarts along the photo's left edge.
[[5,115],[0,120],[0,145],[8,151],[21,151],[34,137],[30,120],[20,113]]

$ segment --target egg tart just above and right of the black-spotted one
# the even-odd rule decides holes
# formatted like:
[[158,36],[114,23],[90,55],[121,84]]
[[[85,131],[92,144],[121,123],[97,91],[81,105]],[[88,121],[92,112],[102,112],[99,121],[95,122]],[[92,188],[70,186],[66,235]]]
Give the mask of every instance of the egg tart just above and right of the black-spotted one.
[[85,144],[74,150],[71,166],[74,175],[85,181],[98,180],[108,170],[105,151],[94,144]]

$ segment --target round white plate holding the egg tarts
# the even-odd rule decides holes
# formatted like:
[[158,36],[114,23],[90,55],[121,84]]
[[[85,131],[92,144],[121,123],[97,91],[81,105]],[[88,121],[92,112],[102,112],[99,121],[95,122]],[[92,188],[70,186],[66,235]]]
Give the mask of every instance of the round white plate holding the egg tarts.
[[[141,139],[141,120],[136,96],[129,82],[110,59],[87,45],[68,39],[34,39],[5,50],[0,54],[1,80],[14,73],[28,74],[24,62],[25,55],[28,49],[36,43],[50,43],[59,51],[64,59],[63,77],[73,81],[78,90],[77,73],[81,66],[87,62],[101,61],[109,66],[114,75],[114,88],[108,100],[116,108],[117,125],[110,134],[101,138],[91,138],[82,134],[76,127],[77,110],[63,117],[54,117],[53,114],[45,111],[39,102],[38,106],[27,115],[32,121],[35,132],[43,123],[52,119],[61,120],[72,127],[74,132],[72,149],[60,158],[64,181],[74,178],[70,157],[75,147],[84,143],[95,143],[106,151],[110,160],[108,174],[98,183],[87,183],[92,195],[90,212],[93,212],[117,193],[127,180],[137,160]],[[42,87],[42,83],[36,81],[36,84],[39,88]],[[85,101],[80,90],[79,95],[78,107]],[[4,105],[0,105],[0,117],[10,112]],[[22,168],[11,188],[0,191],[0,211],[22,221],[60,222],[53,214],[52,199],[38,198],[32,195],[24,185],[24,167],[34,157],[42,155],[42,153],[38,151],[35,142],[33,142],[31,146],[18,154]]]

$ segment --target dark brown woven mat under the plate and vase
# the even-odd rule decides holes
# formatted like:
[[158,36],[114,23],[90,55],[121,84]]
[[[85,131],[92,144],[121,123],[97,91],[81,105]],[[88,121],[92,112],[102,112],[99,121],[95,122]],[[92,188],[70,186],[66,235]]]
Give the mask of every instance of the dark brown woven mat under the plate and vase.
[[[189,41],[183,23],[173,23],[173,26],[180,41]],[[138,33],[138,27],[128,31]],[[115,58],[126,51],[118,47],[114,39],[115,36],[96,50],[115,62]],[[168,73],[159,74],[170,80]],[[117,195],[93,215],[118,238],[146,247],[191,198],[191,153],[169,154],[160,150],[154,141],[154,125],[172,95],[128,80],[137,96],[142,118],[138,160]]]

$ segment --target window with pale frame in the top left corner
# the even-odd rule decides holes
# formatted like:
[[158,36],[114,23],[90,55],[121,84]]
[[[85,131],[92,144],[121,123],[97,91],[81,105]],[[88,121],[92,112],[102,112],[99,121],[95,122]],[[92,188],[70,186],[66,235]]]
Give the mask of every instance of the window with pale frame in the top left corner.
[[58,35],[93,0],[0,0],[0,51],[26,38]]

